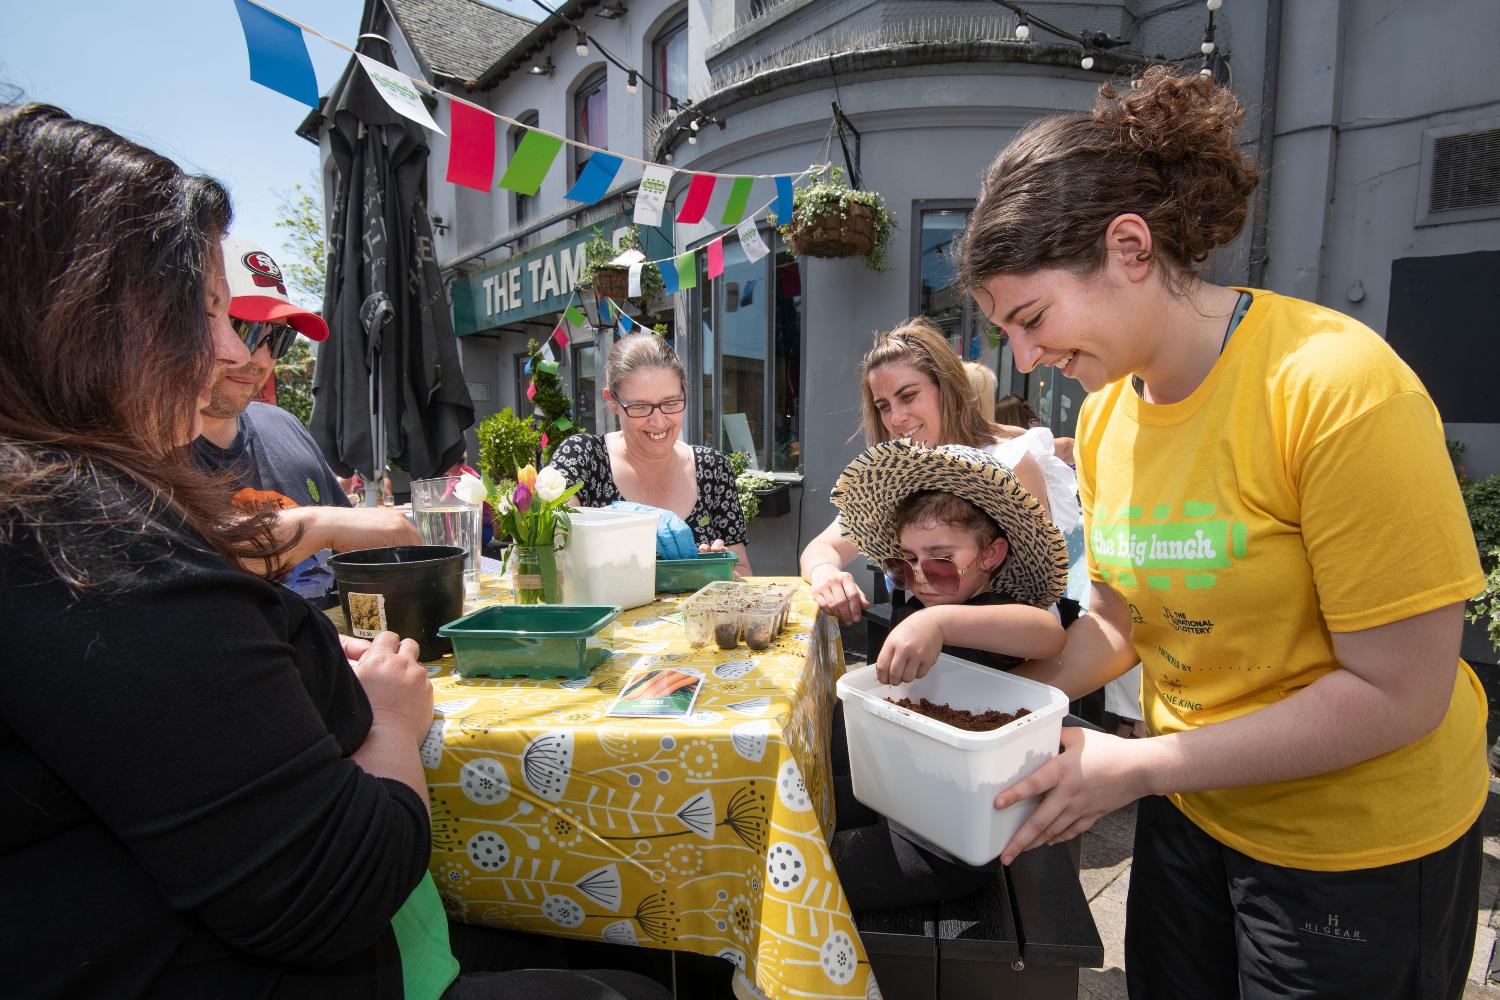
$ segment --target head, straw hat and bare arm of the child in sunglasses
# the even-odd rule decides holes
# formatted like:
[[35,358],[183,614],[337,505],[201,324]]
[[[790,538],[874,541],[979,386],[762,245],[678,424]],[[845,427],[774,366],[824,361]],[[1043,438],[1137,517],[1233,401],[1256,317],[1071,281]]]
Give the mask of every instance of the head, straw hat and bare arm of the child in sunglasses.
[[884,441],[849,463],[832,501],[844,537],[909,595],[892,607],[882,682],[915,681],[939,652],[1006,669],[1062,651],[1066,543],[993,456]]

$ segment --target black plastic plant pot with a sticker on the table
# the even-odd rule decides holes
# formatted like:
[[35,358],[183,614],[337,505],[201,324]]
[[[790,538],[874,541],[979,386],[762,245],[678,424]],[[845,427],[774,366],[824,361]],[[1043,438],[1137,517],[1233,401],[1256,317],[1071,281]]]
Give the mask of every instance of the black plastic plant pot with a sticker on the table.
[[458,546],[392,546],[328,559],[350,634],[393,631],[414,639],[423,660],[448,652],[438,628],[464,615],[464,556]]

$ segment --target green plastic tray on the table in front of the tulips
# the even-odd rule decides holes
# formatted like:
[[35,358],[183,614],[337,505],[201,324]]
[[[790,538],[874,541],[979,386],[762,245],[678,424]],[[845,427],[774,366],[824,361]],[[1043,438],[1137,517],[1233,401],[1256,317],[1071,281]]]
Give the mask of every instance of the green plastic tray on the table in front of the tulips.
[[609,604],[496,604],[438,630],[462,678],[580,678],[612,654],[590,639],[620,618]]

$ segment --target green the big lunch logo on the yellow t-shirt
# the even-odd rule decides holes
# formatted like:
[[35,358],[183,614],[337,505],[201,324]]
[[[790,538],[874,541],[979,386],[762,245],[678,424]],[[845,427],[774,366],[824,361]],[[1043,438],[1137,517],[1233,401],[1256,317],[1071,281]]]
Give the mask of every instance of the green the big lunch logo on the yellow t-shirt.
[[1246,535],[1245,525],[1220,517],[1215,504],[1186,501],[1180,508],[1156,504],[1149,516],[1144,507],[1124,507],[1113,519],[1096,520],[1089,550],[1108,583],[1204,591],[1245,558]]

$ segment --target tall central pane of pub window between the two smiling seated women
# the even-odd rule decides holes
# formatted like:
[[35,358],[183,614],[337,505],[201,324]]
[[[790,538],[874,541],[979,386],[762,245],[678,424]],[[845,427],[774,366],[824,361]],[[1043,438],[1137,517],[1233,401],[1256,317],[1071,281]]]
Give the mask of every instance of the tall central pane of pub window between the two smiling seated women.
[[[723,451],[748,451],[752,468],[765,456],[765,261],[750,264],[742,253],[716,280],[718,303],[718,394]],[[706,273],[705,273],[706,277]]]

